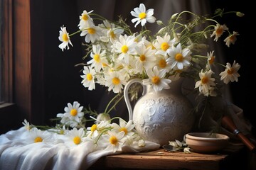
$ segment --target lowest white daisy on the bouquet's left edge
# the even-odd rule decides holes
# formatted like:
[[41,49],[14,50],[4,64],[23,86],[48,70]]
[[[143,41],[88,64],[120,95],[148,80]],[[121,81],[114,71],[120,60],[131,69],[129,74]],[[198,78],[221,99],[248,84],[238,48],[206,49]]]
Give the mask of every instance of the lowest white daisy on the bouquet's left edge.
[[95,89],[95,70],[92,69],[91,66],[86,67],[84,66],[84,70],[82,71],[83,75],[81,75],[80,77],[82,77],[82,81],[81,84],[85,87],[88,88],[88,90],[94,90]]

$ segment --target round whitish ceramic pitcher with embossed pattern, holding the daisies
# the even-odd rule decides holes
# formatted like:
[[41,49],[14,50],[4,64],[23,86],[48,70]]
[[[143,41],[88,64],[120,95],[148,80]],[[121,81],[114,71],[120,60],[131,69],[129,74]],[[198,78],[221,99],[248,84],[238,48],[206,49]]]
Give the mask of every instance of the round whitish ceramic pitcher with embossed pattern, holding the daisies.
[[194,123],[192,105],[181,93],[182,80],[172,81],[170,89],[149,91],[143,86],[142,97],[132,109],[128,90],[134,84],[142,84],[141,79],[132,79],[124,87],[124,100],[133,120],[135,129],[145,140],[169,144],[169,141],[183,140],[183,135],[191,131]]

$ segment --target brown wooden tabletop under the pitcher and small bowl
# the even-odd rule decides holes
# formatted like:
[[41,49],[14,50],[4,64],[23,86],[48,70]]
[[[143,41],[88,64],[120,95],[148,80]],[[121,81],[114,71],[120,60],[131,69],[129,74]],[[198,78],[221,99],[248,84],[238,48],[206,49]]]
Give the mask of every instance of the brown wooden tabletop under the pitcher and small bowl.
[[[197,169],[215,170],[245,167],[241,164],[243,146],[233,146],[217,154],[168,152],[158,149],[136,154],[117,154],[102,157],[90,169]],[[238,164],[235,165],[235,164]]]

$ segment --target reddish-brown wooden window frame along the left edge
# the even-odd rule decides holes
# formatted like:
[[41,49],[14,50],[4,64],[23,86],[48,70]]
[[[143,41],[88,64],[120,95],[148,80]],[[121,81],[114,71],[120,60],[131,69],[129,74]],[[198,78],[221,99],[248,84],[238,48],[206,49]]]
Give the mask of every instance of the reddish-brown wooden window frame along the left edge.
[[[37,125],[44,122],[43,34],[40,34],[41,1],[1,0],[4,12],[3,70],[4,103],[0,115],[15,117],[0,121],[11,126],[24,118]],[[39,34],[38,34],[39,33]],[[14,109],[14,107],[16,109]],[[14,123],[11,119],[16,119]]]

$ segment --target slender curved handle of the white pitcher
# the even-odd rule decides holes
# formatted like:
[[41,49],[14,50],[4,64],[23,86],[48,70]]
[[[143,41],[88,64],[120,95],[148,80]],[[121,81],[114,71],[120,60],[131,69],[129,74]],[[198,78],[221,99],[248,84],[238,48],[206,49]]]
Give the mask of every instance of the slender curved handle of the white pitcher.
[[[128,95],[128,90],[129,87],[134,84],[134,83],[139,83],[142,84],[142,80],[141,79],[131,79],[127,82],[127,84],[124,86],[124,101],[127,105],[127,109],[128,109],[128,113],[129,113],[129,120],[132,120],[132,116],[133,116],[133,111],[132,111],[132,106],[131,106],[131,102],[129,101],[129,95]],[[143,86],[143,85],[142,85]],[[145,86],[143,86],[143,91],[142,91],[142,95],[146,94],[146,88]]]

